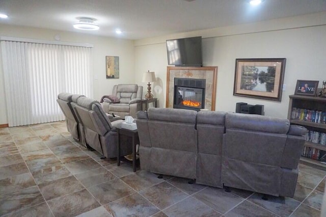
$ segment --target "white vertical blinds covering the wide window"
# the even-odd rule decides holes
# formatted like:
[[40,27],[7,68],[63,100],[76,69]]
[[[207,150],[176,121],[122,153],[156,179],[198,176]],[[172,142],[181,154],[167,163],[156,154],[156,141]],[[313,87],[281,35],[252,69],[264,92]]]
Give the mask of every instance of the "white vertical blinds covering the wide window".
[[92,48],[1,41],[9,126],[64,120],[61,92],[92,96]]

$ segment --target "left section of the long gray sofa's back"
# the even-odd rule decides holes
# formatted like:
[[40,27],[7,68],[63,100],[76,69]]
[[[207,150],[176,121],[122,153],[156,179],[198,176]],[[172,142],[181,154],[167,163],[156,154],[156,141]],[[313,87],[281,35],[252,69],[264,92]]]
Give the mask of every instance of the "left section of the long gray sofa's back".
[[[151,172],[196,178],[197,130],[195,111],[149,108],[137,114],[141,147],[150,160],[142,160],[141,168]],[[147,119],[148,118],[148,119]],[[150,151],[146,147],[151,147]],[[144,156],[145,157],[145,156]],[[145,165],[150,164],[150,166]]]

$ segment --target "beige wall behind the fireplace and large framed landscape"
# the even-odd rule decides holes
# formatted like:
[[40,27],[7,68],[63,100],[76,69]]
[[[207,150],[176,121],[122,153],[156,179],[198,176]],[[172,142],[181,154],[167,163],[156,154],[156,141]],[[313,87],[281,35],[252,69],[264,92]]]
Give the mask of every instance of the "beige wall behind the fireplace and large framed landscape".
[[[135,41],[135,73],[155,71],[159,82],[154,96],[159,106],[166,100],[166,39],[203,37],[204,66],[218,66],[216,111],[234,112],[236,102],[263,104],[265,115],[287,117],[289,95],[297,79],[326,80],[326,12],[269,20],[246,25],[227,26]],[[237,58],[286,58],[282,101],[233,96],[234,68]],[[140,79],[137,79],[139,82]],[[159,91],[159,92],[156,92]]]

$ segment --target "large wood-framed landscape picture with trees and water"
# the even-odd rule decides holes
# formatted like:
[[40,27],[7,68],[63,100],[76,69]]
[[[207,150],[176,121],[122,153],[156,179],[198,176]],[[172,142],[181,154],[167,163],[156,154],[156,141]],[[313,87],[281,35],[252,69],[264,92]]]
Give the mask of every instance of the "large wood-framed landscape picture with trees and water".
[[281,101],[286,58],[236,59],[234,96]]

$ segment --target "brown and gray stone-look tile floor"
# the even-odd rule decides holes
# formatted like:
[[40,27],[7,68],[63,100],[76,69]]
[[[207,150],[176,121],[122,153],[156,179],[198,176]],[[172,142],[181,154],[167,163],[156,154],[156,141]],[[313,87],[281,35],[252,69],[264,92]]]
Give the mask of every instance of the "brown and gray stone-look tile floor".
[[0,129],[0,216],[320,216],[326,171],[300,164],[294,198],[223,189],[100,159],[65,122]]

